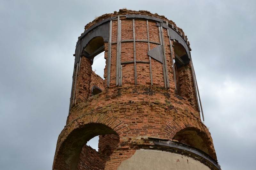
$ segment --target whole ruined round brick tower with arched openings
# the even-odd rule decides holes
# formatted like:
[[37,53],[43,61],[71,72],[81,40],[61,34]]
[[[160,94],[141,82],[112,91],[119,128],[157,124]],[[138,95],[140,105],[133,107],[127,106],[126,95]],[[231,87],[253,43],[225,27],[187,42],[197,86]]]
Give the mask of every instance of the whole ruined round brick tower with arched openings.
[[[101,52],[104,79],[92,71]],[[53,169],[219,170],[198,96],[189,42],[174,22],[126,9],[96,18],[76,44]],[[95,136],[98,151],[86,145]]]

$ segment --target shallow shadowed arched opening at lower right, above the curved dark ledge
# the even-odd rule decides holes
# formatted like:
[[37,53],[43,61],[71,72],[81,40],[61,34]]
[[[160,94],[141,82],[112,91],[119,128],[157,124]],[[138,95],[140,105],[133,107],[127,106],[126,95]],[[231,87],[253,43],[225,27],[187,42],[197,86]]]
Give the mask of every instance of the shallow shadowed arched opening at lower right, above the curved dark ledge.
[[177,132],[172,139],[177,140],[180,143],[193,146],[210,155],[210,148],[206,145],[209,139],[205,133],[199,129],[193,127],[182,129]]

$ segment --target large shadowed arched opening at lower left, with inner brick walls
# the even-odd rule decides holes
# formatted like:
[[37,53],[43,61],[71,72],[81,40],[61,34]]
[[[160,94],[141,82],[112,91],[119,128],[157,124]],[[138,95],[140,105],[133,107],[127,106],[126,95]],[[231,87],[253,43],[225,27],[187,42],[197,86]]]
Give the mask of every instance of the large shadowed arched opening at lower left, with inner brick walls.
[[[96,151],[87,145],[87,142],[96,136],[113,136],[114,138],[103,137],[104,142],[100,142],[100,139],[99,151]],[[88,123],[72,131],[63,145],[66,149],[62,154],[69,170],[100,170],[104,169],[106,161],[109,160],[109,156],[117,148],[118,143],[119,136],[116,131],[101,123]],[[110,152],[102,152],[104,150]]]

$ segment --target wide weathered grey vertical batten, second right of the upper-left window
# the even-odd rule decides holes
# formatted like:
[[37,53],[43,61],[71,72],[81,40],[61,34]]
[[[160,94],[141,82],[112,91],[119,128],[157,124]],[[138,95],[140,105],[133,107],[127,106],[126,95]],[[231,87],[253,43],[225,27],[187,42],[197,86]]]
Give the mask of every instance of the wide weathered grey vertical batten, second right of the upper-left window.
[[116,45],[116,85],[121,83],[121,20],[117,17],[117,45]]

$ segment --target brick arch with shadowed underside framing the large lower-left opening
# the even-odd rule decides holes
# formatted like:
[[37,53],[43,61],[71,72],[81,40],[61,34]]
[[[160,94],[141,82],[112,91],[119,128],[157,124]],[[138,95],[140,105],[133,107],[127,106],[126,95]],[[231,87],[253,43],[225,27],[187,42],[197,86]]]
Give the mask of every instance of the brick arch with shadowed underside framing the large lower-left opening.
[[53,170],[75,170],[83,146],[98,135],[126,136],[129,128],[111,115],[84,115],[69,123],[60,133]]

